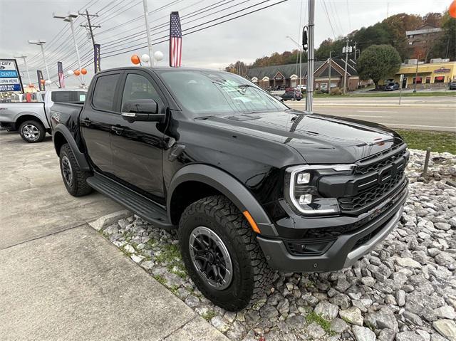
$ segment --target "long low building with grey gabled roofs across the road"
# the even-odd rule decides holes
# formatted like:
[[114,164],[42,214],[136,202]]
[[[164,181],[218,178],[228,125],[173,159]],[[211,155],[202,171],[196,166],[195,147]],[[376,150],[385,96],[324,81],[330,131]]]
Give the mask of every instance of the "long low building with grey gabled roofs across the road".
[[[331,59],[331,86],[343,87],[345,61],[340,58]],[[347,90],[356,90],[368,84],[361,82],[356,71],[356,62],[349,60],[347,64]],[[302,79],[299,79],[299,64],[273,65],[261,68],[250,68],[247,78],[261,88],[296,87],[307,84],[307,63],[302,64]],[[315,62],[315,88],[326,89],[329,82],[329,60]]]

